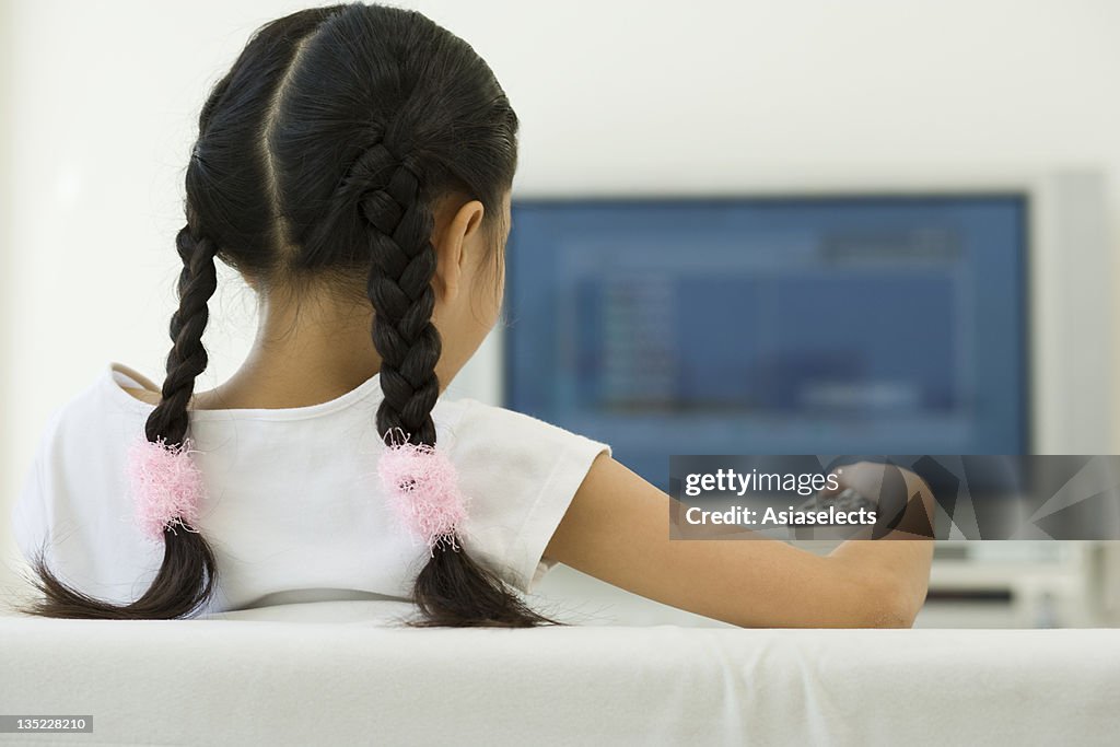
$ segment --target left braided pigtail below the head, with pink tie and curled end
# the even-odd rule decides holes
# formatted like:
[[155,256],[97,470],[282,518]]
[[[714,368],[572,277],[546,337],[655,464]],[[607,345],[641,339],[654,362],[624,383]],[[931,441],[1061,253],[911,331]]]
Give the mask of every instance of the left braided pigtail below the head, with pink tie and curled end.
[[148,418],[144,438],[130,454],[137,516],[149,538],[164,540],[164,562],[148,590],[136,601],[113,605],[63,582],[40,550],[31,583],[41,597],[24,611],[81,619],[170,619],[185,617],[209,600],[216,580],[214,552],[190,525],[197,516],[198,473],[189,463],[187,404],[195,379],[206,368],[202,336],[207,302],[217,287],[215,246],[190,227],[176,237],[183,272],[179,308],[171,316],[171,352],[162,399]]

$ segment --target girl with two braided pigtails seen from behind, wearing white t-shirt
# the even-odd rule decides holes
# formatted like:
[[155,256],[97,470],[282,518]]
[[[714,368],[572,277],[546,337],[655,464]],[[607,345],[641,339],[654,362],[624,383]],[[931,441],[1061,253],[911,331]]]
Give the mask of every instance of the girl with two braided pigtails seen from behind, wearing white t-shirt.
[[[15,514],[28,611],[178,618],[318,590],[522,627],[552,622],[519,592],[563,562],[736,625],[912,624],[930,542],[670,541],[669,496],[607,445],[441,396],[500,312],[516,132],[487,65],[417,12],[259,29],[198,120],[162,384],[111,364],[43,437]],[[260,328],[196,393],[218,260]]]

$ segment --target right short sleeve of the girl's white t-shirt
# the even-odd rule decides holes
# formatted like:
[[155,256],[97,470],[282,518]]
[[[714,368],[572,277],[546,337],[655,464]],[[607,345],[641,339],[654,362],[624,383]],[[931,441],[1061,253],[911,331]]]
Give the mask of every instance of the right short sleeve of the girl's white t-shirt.
[[591,463],[610,447],[524,413],[461,400],[451,454],[468,499],[464,542],[531,592],[556,566],[544,549]]

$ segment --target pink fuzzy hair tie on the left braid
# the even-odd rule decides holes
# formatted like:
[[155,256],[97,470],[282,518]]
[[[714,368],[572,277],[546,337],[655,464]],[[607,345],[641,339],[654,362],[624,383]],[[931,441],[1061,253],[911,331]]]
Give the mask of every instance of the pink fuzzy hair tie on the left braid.
[[179,446],[169,446],[162,438],[153,442],[141,436],[129,450],[128,474],[137,525],[153,541],[162,539],[166,527],[195,526],[198,521],[205,488],[190,454],[189,438]]

